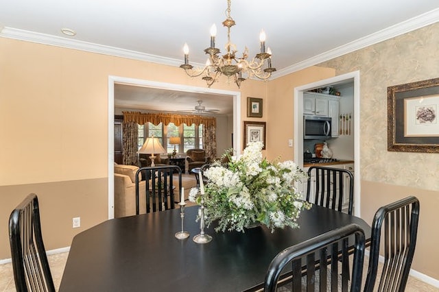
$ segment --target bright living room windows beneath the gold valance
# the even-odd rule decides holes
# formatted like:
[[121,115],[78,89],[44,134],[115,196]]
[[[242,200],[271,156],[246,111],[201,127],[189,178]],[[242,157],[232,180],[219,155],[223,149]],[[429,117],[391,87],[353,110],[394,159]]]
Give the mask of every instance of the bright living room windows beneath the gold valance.
[[145,143],[146,138],[152,135],[160,140],[163,148],[167,149],[167,153],[174,151],[174,145],[169,144],[170,137],[180,137],[181,145],[176,145],[178,153],[186,153],[188,149],[203,147],[203,125],[195,126],[195,124],[186,125],[183,123],[178,127],[174,123],[169,123],[167,127],[163,127],[163,123],[158,125],[145,123],[145,125],[138,125],[138,130],[139,140],[137,144],[139,149]]

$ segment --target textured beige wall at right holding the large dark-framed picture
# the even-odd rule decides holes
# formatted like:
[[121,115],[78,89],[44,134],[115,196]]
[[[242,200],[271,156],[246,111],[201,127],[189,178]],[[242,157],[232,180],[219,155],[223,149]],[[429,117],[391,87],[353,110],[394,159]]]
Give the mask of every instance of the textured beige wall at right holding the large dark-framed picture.
[[416,195],[420,227],[412,268],[439,279],[439,154],[387,151],[388,86],[438,77],[439,23],[320,64],[360,71],[361,215]]

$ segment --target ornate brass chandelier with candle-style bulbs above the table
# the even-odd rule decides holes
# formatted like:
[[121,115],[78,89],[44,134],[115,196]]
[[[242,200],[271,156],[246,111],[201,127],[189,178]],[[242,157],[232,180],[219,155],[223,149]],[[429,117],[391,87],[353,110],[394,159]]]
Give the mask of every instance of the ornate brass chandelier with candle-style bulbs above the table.
[[[217,27],[215,24],[211,27],[211,47],[204,49],[204,53],[209,55],[204,67],[194,69],[193,66],[189,64],[189,47],[187,44],[183,47],[183,51],[185,52],[185,64],[180,65],[180,68],[185,69],[187,75],[190,77],[198,77],[202,75],[202,79],[206,81],[207,86],[209,87],[211,87],[214,82],[217,82],[222,74],[227,76],[228,82],[233,80],[239,88],[241,82],[247,78],[257,77],[261,80],[266,80],[270,78],[274,71],[276,71],[276,68],[272,67],[272,52],[270,47],[265,51],[264,31],[262,31],[259,36],[261,53],[257,53],[251,61],[248,61],[248,49],[246,47],[241,58],[236,56],[236,45],[230,41],[230,27],[235,25],[235,21],[230,16],[230,2],[231,0],[227,0],[227,18],[222,23],[227,27],[228,40],[225,46],[226,53],[224,55],[221,55],[221,51],[215,48],[215,36],[217,33]],[[267,67],[263,69],[265,60],[267,60]]]

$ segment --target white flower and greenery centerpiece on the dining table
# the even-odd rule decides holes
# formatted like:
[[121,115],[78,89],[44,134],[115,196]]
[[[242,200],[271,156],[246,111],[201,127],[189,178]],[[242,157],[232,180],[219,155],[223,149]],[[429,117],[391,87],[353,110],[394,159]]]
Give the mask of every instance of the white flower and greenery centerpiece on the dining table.
[[[310,204],[302,202],[294,183],[305,181],[307,173],[292,160],[268,162],[262,157],[262,143],[249,143],[244,154],[228,165],[213,163],[204,171],[208,182],[204,188],[206,226],[217,221],[215,231],[237,230],[262,223],[274,228],[298,228],[300,211]],[[200,204],[198,188],[192,188],[189,200]]]

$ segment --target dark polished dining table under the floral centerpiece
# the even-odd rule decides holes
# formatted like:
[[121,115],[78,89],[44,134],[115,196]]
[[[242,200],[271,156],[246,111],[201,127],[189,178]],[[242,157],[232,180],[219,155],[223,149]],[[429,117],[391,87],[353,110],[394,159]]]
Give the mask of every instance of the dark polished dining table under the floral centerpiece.
[[257,291],[271,260],[286,247],[357,223],[370,240],[370,226],[358,217],[313,205],[300,228],[265,226],[242,232],[205,231],[198,244],[198,206],[185,208],[189,238],[178,240],[180,209],[110,219],[73,238],[60,284],[67,291]]

